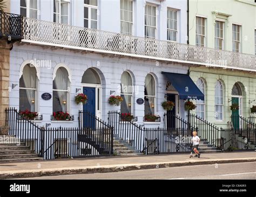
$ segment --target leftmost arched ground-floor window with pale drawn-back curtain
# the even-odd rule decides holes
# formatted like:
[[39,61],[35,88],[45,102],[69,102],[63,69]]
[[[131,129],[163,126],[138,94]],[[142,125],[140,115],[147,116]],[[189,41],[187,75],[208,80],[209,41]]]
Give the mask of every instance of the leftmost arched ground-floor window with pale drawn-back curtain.
[[25,65],[19,79],[19,110],[36,111],[37,105],[37,75],[36,68]]

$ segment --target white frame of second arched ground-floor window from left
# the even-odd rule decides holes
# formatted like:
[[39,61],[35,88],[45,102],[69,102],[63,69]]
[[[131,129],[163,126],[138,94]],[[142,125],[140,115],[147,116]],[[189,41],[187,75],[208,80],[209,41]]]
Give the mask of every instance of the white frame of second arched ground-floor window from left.
[[[58,90],[58,89],[53,89],[52,88],[52,95],[53,95],[53,91],[55,92],[66,92],[66,112],[68,112],[70,114],[70,105],[71,105],[71,99],[70,99],[70,89],[71,89],[71,75],[70,75],[70,69],[66,66],[61,66],[61,65],[57,65],[53,71],[53,80],[52,80],[52,87],[53,87],[53,81],[55,80],[56,77],[56,73],[58,71],[59,68],[65,68],[66,72],[68,73],[68,87],[67,90]],[[53,102],[53,99],[52,99]],[[63,111],[65,112],[65,111]],[[53,113],[53,106],[52,106],[52,113]]]

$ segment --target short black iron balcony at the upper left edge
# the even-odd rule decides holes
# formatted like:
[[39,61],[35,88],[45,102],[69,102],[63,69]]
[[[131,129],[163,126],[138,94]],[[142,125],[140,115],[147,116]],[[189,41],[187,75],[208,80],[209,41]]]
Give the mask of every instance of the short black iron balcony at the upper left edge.
[[13,13],[0,11],[0,38],[6,38],[9,43],[23,39],[23,17]]

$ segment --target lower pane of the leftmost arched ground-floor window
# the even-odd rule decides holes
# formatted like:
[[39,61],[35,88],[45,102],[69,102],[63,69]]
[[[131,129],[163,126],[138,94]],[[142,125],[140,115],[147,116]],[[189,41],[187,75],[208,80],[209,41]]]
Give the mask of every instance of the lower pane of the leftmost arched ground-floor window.
[[25,111],[28,109],[29,111],[35,112],[35,101],[36,91],[28,90],[28,89],[19,89],[19,110]]

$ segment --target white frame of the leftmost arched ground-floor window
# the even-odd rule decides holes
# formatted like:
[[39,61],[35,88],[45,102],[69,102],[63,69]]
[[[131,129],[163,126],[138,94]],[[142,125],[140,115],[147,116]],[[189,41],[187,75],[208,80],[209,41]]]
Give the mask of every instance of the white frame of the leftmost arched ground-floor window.
[[[27,62],[27,61],[25,61],[25,62]],[[28,64],[26,64],[26,63],[23,63],[22,64],[22,66],[21,66],[21,69],[22,69],[22,71],[20,71],[20,76],[19,76],[19,80],[21,79],[21,77],[22,77],[22,73],[21,72],[23,72],[23,69],[24,69],[24,67],[26,66],[26,65],[28,65]],[[38,69],[37,69],[37,67],[36,66],[32,66],[32,68],[35,68],[36,69],[36,88],[22,88],[22,87],[19,87],[19,90],[20,89],[24,89],[24,90],[35,90],[35,112],[38,112],[38,115],[40,115],[40,112],[38,111],[38,109],[39,109],[39,99],[38,99],[38,93],[39,93],[39,78],[38,78],[38,76],[39,76],[39,74],[38,74]],[[19,98],[20,99],[20,98]]]

